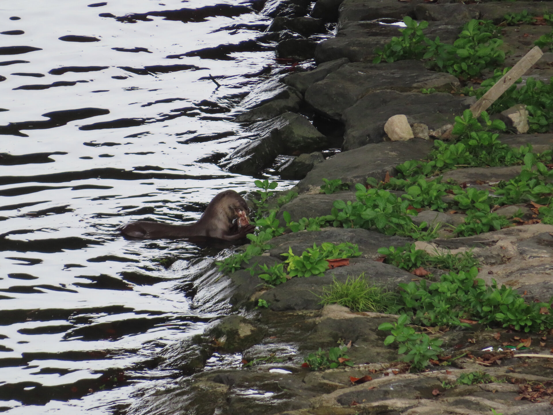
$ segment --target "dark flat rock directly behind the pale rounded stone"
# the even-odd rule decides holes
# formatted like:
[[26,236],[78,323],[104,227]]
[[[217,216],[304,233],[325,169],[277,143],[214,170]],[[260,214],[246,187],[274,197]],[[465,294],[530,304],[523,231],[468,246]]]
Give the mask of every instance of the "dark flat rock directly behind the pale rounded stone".
[[342,114],[346,124],[343,150],[352,150],[369,143],[384,140],[384,124],[388,118],[403,114],[410,124],[426,124],[439,129],[453,124],[455,117],[474,102],[473,97],[451,94],[418,94],[396,91],[377,91],[368,94],[347,108]]

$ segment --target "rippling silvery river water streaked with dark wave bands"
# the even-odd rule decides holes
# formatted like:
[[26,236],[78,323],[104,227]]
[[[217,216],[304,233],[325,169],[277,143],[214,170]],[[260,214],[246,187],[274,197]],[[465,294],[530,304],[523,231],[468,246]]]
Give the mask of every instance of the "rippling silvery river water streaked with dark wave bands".
[[[0,411],[11,415],[113,413],[179,376],[155,354],[228,311],[191,292],[225,247],[114,229],[193,221],[222,189],[252,190],[205,158],[247,139],[229,120],[262,79],[244,75],[285,68],[274,44],[247,42],[270,23],[247,3],[92,1],[0,4]],[[235,46],[193,52],[220,44]]]

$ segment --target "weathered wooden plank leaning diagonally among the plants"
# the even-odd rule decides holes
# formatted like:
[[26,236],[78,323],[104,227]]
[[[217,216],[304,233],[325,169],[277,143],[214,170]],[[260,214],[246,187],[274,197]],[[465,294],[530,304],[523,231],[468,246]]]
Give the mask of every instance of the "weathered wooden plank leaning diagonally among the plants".
[[513,85],[521,76],[523,76],[526,71],[528,71],[544,53],[541,51],[539,46],[534,46],[526,55],[524,55],[517,62],[513,68],[507,74],[495,82],[495,85],[492,86],[486,94],[478,101],[471,106],[472,115],[476,118],[479,117],[482,111],[492,105],[497,98],[503,95],[503,92],[507,91],[511,85]]

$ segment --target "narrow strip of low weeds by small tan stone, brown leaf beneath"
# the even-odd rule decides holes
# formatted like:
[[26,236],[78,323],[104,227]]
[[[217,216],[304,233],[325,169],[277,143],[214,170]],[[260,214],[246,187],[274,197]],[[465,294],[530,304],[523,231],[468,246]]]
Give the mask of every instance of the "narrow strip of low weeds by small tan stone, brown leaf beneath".
[[468,272],[472,267],[479,264],[472,250],[455,254],[452,254],[449,250],[443,252],[436,250],[434,255],[430,255],[424,250],[416,249],[415,243],[406,243],[403,247],[398,248],[394,246],[379,248],[378,253],[386,256],[385,263],[407,271],[419,267],[435,267],[453,272]]

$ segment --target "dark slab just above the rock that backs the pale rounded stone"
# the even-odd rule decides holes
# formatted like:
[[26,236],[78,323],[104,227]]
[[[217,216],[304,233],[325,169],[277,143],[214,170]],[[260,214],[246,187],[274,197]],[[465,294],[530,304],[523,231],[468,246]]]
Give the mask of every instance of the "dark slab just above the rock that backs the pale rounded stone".
[[391,64],[351,63],[311,85],[305,92],[305,100],[322,115],[340,120],[347,108],[377,90],[411,92],[457,85],[459,80],[455,76],[429,71],[416,60]]

